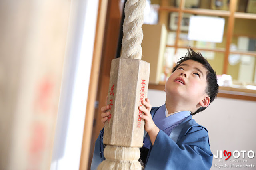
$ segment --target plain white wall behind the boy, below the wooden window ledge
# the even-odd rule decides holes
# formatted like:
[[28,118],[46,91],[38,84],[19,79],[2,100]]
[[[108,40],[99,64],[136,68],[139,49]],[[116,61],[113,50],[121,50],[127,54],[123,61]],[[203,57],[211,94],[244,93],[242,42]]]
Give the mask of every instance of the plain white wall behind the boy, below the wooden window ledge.
[[[165,102],[165,92],[148,90],[148,98],[152,106],[160,106]],[[256,102],[217,97],[202,113],[193,116],[197,123],[207,128],[210,138],[210,148],[213,154],[217,150],[234,152],[235,150],[253,150],[256,152]],[[213,158],[212,169],[219,169],[217,165],[253,164],[256,168],[256,156],[248,158],[233,158],[225,161],[225,156]],[[230,162],[230,160],[247,160],[248,162]],[[218,162],[222,160],[223,162]],[[216,167],[214,167],[214,164]],[[221,167],[222,169],[222,167]],[[247,168],[245,168],[247,169]]]

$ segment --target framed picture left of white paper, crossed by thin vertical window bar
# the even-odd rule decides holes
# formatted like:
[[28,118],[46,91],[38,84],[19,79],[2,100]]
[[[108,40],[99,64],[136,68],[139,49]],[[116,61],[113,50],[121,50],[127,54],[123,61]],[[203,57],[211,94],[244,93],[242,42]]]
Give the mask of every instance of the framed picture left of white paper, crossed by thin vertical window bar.
[[[188,31],[190,16],[192,16],[192,14],[186,14],[186,13],[183,14],[182,22],[181,22],[181,26],[180,26],[181,31]],[[171,12],[170,13],[170,21],[169,21],[170,30],[177,30],[178,20],[179,20],[179,13]]]

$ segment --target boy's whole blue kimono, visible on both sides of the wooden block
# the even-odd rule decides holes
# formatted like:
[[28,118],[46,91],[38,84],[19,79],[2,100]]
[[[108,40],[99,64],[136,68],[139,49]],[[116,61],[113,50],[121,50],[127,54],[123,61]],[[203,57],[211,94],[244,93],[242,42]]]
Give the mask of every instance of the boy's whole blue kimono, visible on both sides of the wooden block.
[[[158,109],[152,108],[152,117]],[[95,142],[92,170],[105,160],[103,134],[104,128]],[[147,154],[145,170],[209,170],[212,156],[206,128],[190,115],[172,130],[170,136],[159,131]]]

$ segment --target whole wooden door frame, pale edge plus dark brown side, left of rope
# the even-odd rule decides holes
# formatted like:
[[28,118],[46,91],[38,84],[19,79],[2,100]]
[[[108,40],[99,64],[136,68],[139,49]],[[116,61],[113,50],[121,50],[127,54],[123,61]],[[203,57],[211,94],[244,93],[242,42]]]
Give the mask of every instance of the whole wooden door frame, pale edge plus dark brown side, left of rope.
[[[90,169],[94,144],[103,128],[100,108],[105,105],[108,95],[110,66],[116,58],[123,5],[121,0],[99,0],[80,170]],[[95,107],[96,101],[98,107]]]

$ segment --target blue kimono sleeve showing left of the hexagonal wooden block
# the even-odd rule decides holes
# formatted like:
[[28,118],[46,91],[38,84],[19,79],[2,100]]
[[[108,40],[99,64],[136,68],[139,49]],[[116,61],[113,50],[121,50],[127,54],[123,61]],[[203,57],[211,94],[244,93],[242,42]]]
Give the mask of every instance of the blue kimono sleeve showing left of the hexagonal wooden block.
[[100,134],[95,142],[94,146],[94,153],[92,157],[92,164],[91,164],[91,170],[96,170],[99,164],[105,160],[105,157],[103,155],[104,151],[104,144],[103,144],[103,134],[104,134],[104,128],[100,131]]

